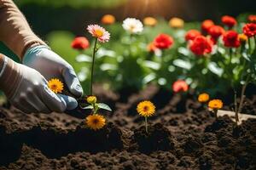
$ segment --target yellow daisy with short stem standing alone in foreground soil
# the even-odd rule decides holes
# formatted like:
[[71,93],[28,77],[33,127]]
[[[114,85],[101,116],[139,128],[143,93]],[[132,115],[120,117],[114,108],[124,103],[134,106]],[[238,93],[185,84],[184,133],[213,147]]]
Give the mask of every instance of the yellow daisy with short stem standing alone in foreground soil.
[[148,133],[148,116],[153,116],[155,112],[155,106],[152,102],[145,100],[137,105],[137,112],[139,115],[145,117],[145,127]]

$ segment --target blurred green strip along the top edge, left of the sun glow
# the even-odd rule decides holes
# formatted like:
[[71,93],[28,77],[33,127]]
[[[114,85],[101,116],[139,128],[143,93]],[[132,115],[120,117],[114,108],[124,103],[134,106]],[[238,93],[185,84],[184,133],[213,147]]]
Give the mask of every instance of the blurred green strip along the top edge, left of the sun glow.
[[19,6],[26,4],[37,4],[39,6],[63,7],[72,8],[113,8],[125,3],[126,0],[15,0]]

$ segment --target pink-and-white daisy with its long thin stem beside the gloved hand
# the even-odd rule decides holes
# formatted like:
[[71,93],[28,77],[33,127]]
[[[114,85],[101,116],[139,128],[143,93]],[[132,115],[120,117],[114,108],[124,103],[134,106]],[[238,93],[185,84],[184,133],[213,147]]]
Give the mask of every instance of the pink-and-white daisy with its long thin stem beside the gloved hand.
[[106,31],[102,26],[90,25],[87,27],[87,30],[90,32],[92,37],[95,37],[95,43],[92,54],[92,64],[91,64],[91,74],[90,74],[90,95],[92,95],[92,84],[93,84],[93,73],[94,73],[94,65],[95,65],[95,55],[98,48],[96,47],[97,42],[108,42],[110,38],[110,34]]

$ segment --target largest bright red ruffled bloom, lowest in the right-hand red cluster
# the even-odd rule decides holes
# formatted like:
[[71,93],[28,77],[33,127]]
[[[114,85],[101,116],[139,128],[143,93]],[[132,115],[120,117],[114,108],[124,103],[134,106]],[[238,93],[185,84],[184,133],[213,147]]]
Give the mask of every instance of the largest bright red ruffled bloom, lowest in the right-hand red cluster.
[[209,54],[212,52],[213,42],[204,36],[195,37],[194,41],[190,43],[190,50],[196,55]]

